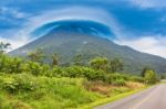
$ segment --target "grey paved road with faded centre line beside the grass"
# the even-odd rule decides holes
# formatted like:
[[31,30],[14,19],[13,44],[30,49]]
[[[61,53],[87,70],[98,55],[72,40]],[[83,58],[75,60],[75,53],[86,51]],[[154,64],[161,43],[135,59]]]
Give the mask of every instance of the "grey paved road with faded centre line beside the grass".
[[166,109],[166,84],[95,109]]

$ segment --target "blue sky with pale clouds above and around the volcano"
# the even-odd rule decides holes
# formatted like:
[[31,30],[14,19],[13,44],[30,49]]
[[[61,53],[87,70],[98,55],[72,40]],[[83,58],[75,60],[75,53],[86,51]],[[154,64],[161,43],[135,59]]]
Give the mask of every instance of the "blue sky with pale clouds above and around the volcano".
[[17,48],[30,33],[60,20],[90,20],[107,25],[112,39],[141,52],[166,57],[166,2],[163,0],[3,0],[0,41]]

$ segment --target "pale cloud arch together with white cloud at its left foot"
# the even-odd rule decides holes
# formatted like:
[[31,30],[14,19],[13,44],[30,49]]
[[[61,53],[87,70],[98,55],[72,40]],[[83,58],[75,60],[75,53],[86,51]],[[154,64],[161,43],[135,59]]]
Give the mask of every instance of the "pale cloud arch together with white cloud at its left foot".
[[[95,9],[90,7],[68,7],[63,9],[44,11],[35,17],[28,19],[28,22],[23,24],[24,28],[20,30],[8,31],[8,37],[1,37],[0,41],[10,42],[12,44],[12,50],[18,48],[21,45],[27,44],[30,41],[35,40],[37,37],[31,37],[29,34],[34,31],[37,28],[42,26],[43,24],[61,21],[61,20],[89,20],[100,22],[111,28],[111,31],[116,35],[121,36],[122,26],[118,22],[110,15],[105,10]],[[8,34],[9,33],[9,34]]]

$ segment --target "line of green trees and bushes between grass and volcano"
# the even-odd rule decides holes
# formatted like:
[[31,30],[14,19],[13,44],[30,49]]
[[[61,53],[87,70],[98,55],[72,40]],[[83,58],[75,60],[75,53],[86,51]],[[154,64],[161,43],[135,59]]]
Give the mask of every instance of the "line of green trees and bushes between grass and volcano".
[[117,74],[124,68],[120,58],[108,59],[106,57],[94,57],[84,66],[81,54],[75,55],[70,66],[59,65],[59,56],[52,54],[51,65],[44,64],[46,57],[41,48],[28,54],[28,59],[11,57],[6,54],[9,43],[0,43],[0,72],[1,73],[31,73],[35,76],[49,77],[85,77],[90,80],[103,80],[110,84],[124,85],[125,80],[136,80],[146,84],[154,84],[158,80],[157,74],[151,68],[144,68],[141,76],[129,74]]

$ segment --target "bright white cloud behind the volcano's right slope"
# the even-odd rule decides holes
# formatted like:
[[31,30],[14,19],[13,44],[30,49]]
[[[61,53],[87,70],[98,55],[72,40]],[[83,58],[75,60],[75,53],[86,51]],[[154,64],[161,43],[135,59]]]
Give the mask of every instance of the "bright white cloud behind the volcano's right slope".
[[142,36],[137,40],[117,40],[115,43],[128,45],[137,51],[166,57],[166,37]]

